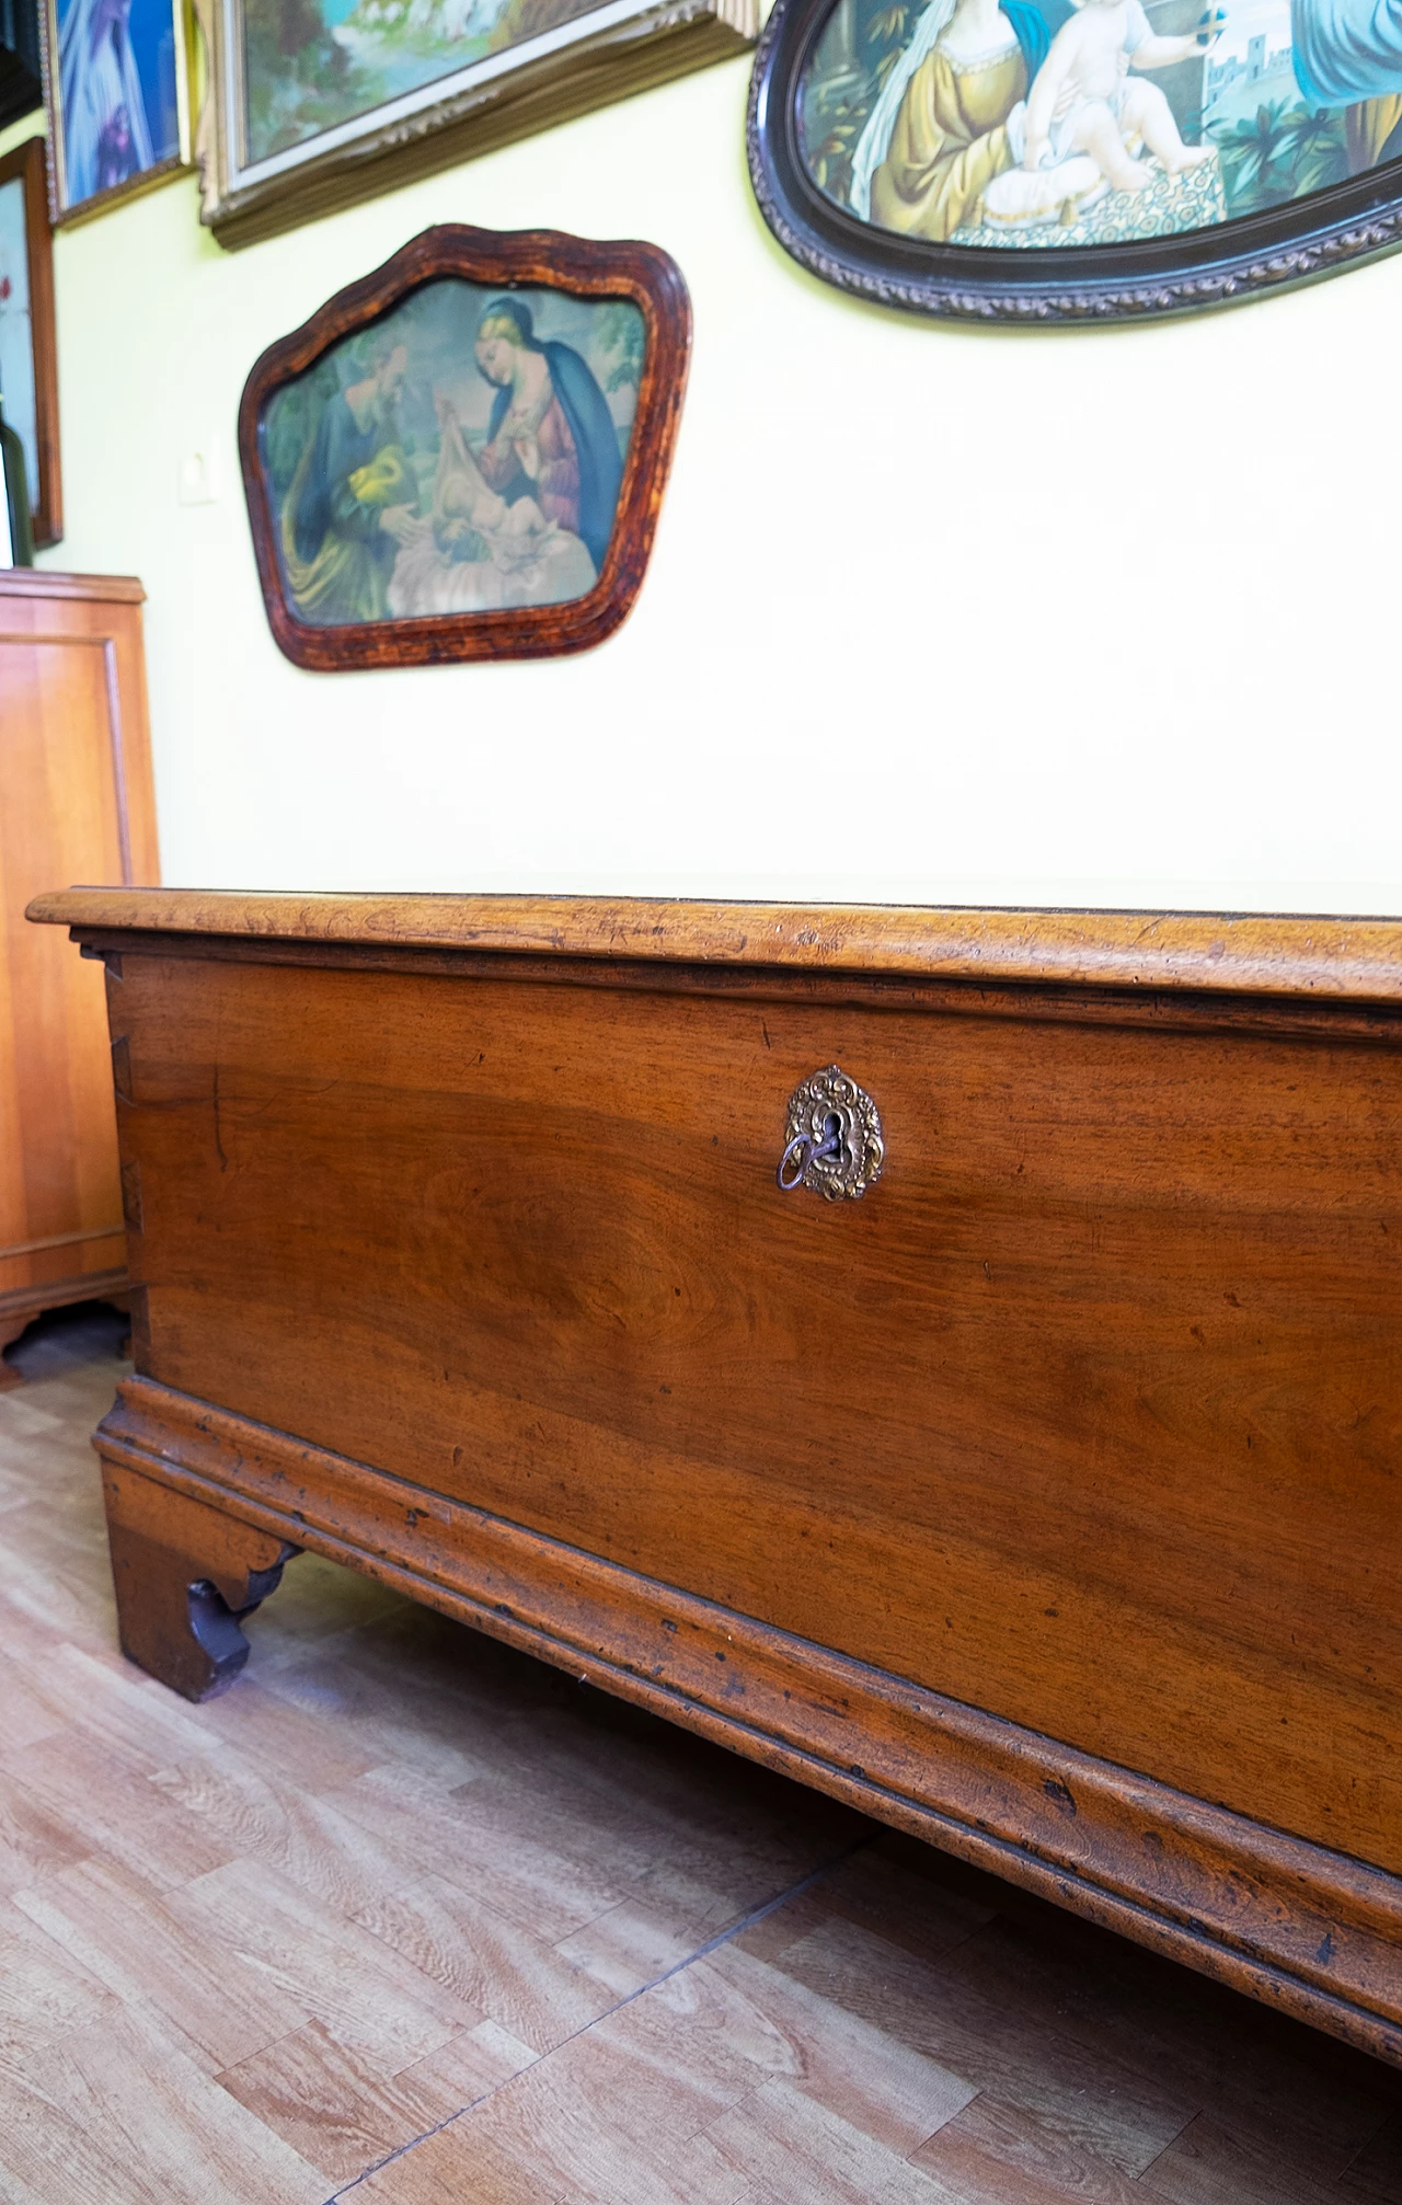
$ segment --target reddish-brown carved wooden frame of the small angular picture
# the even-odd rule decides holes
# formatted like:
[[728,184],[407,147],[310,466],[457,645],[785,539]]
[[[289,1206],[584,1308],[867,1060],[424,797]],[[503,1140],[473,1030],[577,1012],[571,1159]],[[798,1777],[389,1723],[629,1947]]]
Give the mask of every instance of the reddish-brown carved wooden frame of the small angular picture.
[[[578,298],[633,300],[644,318],[644,370],[628,461],[604,571],[569,604],[494,613],[441,613],[425,620],[373,620],[324,628],[298,620],[284,582],[262,450],[267,404],[342,337],[366,329],[425,282],[461,276],[514,291],[520,284]],[[254,364],[238,406],[238,459],[254,531],[254,556],[278,648],[320,673],[348,666],[434,666],[454,659],[536,659],[602,644],[633,611],[653,549],[686,395],[692,306],[677,262],[659,245],[597,243],[556,229],[425,229],[373,276],[328,298],[302,329],[280,337]]]

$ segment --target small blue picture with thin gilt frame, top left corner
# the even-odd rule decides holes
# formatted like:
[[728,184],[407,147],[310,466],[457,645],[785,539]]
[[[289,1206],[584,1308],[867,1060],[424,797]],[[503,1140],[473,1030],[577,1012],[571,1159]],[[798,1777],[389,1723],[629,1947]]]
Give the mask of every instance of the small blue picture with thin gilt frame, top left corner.
[[104,214],[190,168],[185,0],[42,0],[48,209]]

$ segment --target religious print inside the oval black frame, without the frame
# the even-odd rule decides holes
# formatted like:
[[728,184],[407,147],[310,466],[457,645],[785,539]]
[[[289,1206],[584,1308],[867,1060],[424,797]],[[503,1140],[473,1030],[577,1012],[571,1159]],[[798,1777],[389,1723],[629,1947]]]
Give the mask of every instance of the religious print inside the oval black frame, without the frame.
[[1402,0],[838,0],[818,190],[935,245],[1208,229],[1402,157]]

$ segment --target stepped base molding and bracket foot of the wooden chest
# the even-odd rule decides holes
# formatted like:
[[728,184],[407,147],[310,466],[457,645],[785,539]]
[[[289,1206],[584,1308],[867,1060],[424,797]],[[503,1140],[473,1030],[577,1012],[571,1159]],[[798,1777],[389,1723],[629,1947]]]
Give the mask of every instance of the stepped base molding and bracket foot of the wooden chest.
[[93,1444],[115,1550],[190,1594],[152,1636],[119,1570],[123,1645],[187,1698],[304,1548],[1402,2066],[1398,1876],[148,1378]]

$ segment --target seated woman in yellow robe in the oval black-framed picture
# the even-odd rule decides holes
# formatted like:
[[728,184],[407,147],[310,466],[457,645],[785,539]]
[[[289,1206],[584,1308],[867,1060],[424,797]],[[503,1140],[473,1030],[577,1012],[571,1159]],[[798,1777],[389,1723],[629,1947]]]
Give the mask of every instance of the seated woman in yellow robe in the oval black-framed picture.
[[1018,161],[1007,119],[1069,18],[1069,0],[930,0],[858,139],[853,209],[932,243],[974,223]]

